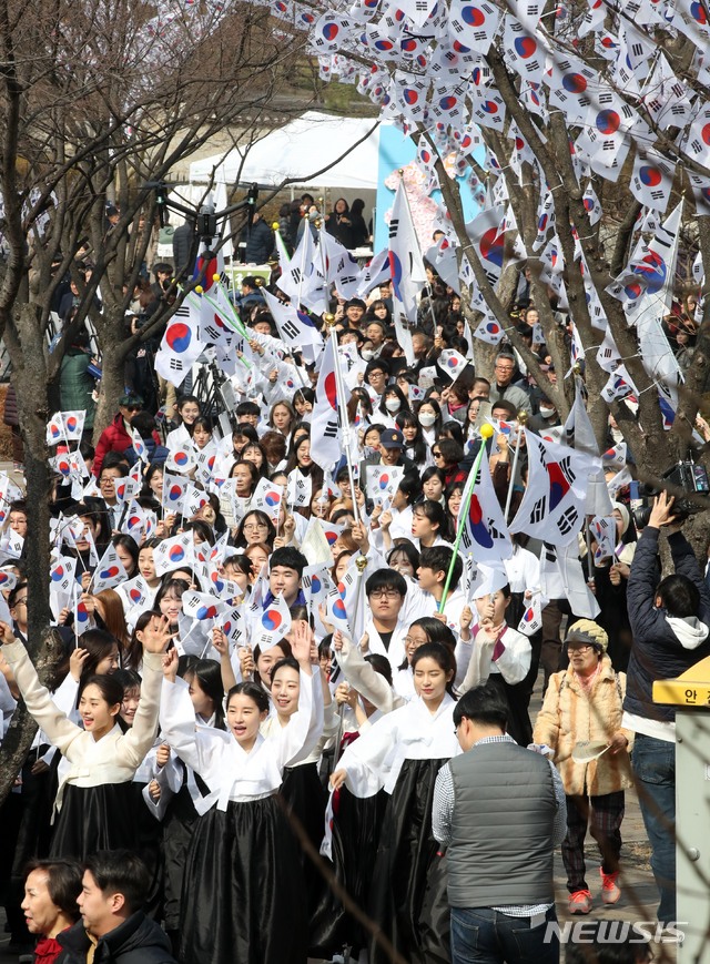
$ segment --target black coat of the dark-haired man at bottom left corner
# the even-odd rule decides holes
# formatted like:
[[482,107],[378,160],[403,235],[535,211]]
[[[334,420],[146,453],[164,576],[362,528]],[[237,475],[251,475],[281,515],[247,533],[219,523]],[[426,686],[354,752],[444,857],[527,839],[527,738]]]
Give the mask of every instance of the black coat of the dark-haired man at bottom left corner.
[[[85,964],[90,946],[83,923],[63,931],[57,940],[67,951],[67,964]],[[94,964],[175,964],[170,940],[142,911],[99,940]]]

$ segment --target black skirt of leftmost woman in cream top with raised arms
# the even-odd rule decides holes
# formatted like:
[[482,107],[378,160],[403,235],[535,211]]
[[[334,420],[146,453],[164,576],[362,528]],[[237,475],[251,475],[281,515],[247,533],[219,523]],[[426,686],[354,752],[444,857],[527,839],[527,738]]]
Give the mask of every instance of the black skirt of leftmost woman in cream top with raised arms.
[[[145,810],[145,803],[141,800]],[[141,851],[140,819],[133,784],[67,784],[57,815],[50,856],[83,860],[98,850]]]

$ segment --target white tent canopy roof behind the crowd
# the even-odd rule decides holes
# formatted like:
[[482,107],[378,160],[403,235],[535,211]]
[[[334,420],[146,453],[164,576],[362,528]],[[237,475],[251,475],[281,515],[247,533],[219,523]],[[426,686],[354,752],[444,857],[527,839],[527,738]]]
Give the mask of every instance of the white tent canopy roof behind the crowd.
[[[214,176],[226,184],[256,182],[276,187],[288,180],[304,187],[375,191],[378,152],[376,119],[307,111],[251,146],[195,161],[190,165],[190,181],[205,183]],[[318,173],[328,164],[333,166]]]

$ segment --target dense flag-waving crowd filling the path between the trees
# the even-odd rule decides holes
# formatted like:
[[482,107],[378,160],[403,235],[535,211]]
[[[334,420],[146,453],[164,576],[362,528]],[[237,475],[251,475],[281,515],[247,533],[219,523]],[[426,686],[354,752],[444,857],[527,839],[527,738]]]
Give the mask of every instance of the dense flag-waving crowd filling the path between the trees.
[[[335,205],[344,243],[358,216]],[[112,424],[77,443],[90,480],[57,477],[51,579],[72,585],[53,590],[63,658],[48,686],[24,645],[31,513],[9,506],[3,733],[20,699],[39,731],[2,808],[0,883],[13,946],[40,936],[43,964],[304,964],[344,946],[372,964],[392,946],[422,964],[558,961],[554,851],[570,913],[617,903],[633,779],[659,921],[676,921],[673,711],[651,688],[710,654],[703,574],[672,499],[640,518],[628,486],[610,556],[580,532],[594,619],[532,538],[471,566],[456,534],[476,459],[510,519],[527,484],[518,414],[537,433],[559,418],[505,343],[490,379],[437,365],[470,346],[460,298],[429,271],[414,364],[389,282],[332,293],[356,457],[328,469],[311,453],[317,364],[248,284],[255,373],[231,430],[190,378],[161,399],[132,359]],[[525,284],[516,317],[554,380]],[[617,433],[610,420],[610,445]]]

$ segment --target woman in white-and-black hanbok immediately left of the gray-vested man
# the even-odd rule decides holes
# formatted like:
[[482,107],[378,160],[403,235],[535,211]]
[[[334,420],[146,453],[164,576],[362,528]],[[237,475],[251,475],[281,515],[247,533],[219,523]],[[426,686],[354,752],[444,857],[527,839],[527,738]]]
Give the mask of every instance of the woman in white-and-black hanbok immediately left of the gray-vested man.
[[[449,961],[446,876],[432,833],[432,801],[439,769],[460,752],[450,687],[456,663],[440,643],[412,658],[416,699],[378,720],[352,743],[331,777],[356,796],[384,788],[383,821],[368,912],[410,964]],[[371,944],[371,964],[388,955]]]

